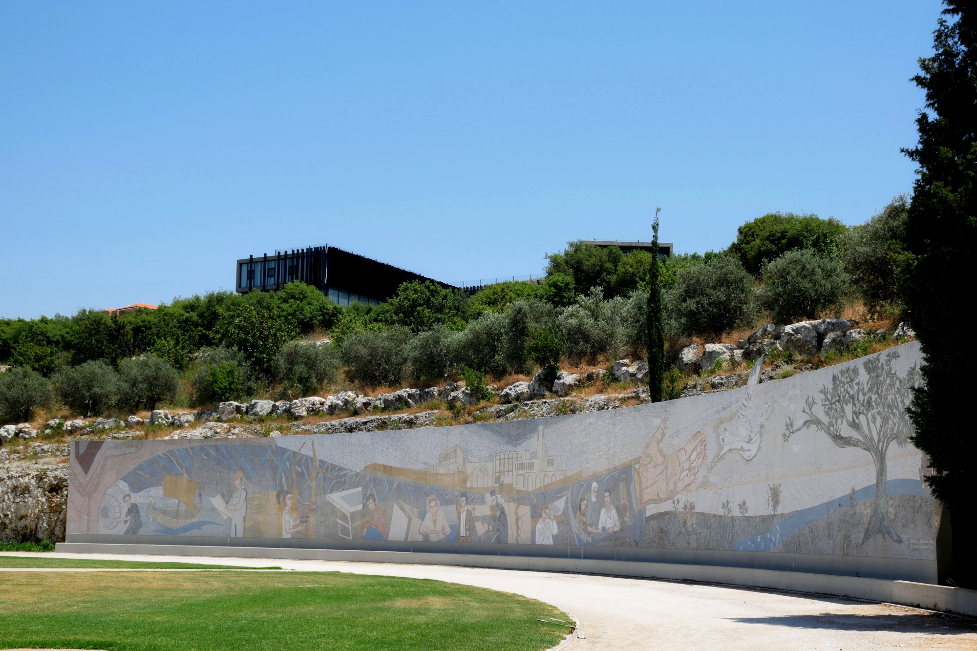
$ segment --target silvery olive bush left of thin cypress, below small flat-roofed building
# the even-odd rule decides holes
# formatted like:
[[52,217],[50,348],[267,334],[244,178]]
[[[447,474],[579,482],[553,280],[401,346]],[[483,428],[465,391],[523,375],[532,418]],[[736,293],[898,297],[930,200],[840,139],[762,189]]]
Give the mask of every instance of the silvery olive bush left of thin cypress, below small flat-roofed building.
[[576,303],[557,319],[567,342],[567,357],[593,362],[599,355],[619,357],[624,350],[624,309],[627,301],[619,296],[605,301],[603,289],[593,287],[587,296],[577,296]]

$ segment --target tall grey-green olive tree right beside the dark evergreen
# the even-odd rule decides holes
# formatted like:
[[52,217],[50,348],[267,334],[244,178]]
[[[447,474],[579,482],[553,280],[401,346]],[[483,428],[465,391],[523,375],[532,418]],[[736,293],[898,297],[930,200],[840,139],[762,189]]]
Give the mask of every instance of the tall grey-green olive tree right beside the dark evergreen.
[[900,270],[909,263],[903,246],[909,208],[909,198],[899,195],[839,239],[845,272],[858,286],[871,316],[900,300]]

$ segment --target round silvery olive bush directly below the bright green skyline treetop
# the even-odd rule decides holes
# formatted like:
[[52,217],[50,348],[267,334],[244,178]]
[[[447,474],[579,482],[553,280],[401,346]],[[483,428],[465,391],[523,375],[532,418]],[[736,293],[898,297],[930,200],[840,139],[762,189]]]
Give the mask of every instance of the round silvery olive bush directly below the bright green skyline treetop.
[[847,287],[848,276],[838,258],[810,250],[787,251],[763,266],[760,303],[779,324],[817,319],[840,307]]

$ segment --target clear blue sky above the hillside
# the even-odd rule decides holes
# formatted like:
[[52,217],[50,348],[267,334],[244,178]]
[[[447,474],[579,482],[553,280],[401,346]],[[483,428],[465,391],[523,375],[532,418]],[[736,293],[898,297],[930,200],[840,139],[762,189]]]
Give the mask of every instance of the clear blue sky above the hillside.
[[446,282],[911,190],[923,2],[0,3],[0,316],[328,243]]

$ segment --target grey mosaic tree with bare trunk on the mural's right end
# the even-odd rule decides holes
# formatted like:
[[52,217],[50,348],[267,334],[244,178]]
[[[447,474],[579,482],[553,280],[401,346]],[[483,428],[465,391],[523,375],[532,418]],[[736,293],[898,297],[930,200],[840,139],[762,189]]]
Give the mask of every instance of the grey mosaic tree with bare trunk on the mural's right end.
[[892,368],[899,353],[890,350],[884,355],[872,355],[862,365],[866,381],[859,369],[851,366],[831,375],[831,386],[821,389],[821,411],[818,415],[816,399],[809,396],[803,413],[807,418],[794,427],[788,417],[784,440],[797,432],[814,427],[823,432],[839,448],[860,448],[871,455],[875,463],[875,500],[862,544],[873,536],[888,536],[893,542],[903,542],[892,526],[889,515],[889,496],[885,490],[886,454],[895,443],[902,448],[913,434],[913,424],[906,408],[913,399],[913,387],[920,381],[915,365],[900,377]]

